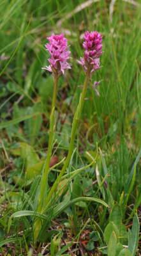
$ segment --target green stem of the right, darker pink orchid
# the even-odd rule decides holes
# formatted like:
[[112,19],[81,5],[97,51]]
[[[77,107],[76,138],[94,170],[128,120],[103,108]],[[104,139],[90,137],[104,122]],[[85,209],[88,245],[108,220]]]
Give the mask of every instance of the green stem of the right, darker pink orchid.
[[80,118],[80,114],[82,113],[82,108],[83,108],[84,99],[85,99],[85,93],[86,93],[86,90],[87,90],[87,85],[89,83],[90,72],[91,72],[91,70],[89,70],[87,72],[86,76],[85,76],[85,81],[84,81],[82,94],[80,95],[80,100],[79,100],[79,103],[78,103],[78,106],[77,106],[77,110],[75,111],[75,116],[73,118],[70,148],[69,148],[69,151],[68,151],[68,156],[66,157],[66,161],[64,162],[63,169],[59,173],[59,176],[57,177],[57,180],[54,182],[52,188],[50,189],[50,192],[48,193],[47,200],[45,201],[45,205],[49,205],[48,203],[50,202],[50,198],[52,197],[54,191],[56,190],[57,184],[59,184],[59,181],[61,180],[61,177],[63,176],[66,168],[68,167],[68,164],[70,163],[71,155],[72,155],[72,152],[73,152],[73,145],[74,145],[74,142],[75,142],[75,136],[76,136],[76,132],[77,132],[78,124],[79,124],[79,118]]

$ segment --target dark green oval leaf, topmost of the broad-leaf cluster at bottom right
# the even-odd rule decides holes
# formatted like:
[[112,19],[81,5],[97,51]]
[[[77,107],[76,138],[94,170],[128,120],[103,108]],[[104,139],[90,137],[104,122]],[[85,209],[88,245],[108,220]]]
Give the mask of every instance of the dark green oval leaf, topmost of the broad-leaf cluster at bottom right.
[[119,207],[119,205],[115,204],[112,212],[110,213],[110,221],[113,221],[114,224],[119,227],[121,225],[121,221],[122,221],[122,211]]

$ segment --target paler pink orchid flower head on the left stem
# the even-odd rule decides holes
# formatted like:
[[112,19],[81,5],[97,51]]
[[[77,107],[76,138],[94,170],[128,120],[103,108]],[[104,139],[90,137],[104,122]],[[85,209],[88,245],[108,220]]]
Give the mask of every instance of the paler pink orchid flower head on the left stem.
[[60,76],[62,73],[64,74],[66,69],[71,68],[67,62],[71,58],[69,56],[71,52],[67,50],[70,45],[68,45],[68,40],[64,38],[64,34],[54,35],[52,33],[47,39],[49,44],[46,44],[45,47],[50,53],[51,58],[48,59],[50,65],[43,69],[52,72],[53,75],[57,74],[57,76]]

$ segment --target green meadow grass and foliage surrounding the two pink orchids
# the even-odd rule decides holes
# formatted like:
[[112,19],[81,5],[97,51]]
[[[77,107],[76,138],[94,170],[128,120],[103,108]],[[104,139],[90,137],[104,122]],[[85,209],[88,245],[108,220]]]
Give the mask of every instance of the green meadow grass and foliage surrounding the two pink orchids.
[[[68,173],[91,163],[91,157],[96,156],[96,143],[100,148],[98,157],[93,166],[82,170],[73,181],[70,180],[68,187],[64,186],[57,198],[54,196],[54,204],[63,202],[68,191],[70,200],[80,196],[96,196],[108,204],[111,210],[94,202],[80,201],[64,209],[52,221],[52,208],[44,223],[45,230],[42,230],[42,237],[48,234],[47,239],[44,244],[40,243],[38,248],[34,248],[33,255],[35,251],[36,255],[40,255],[46,245],[48,247],[44,255],[56,255],[59,252],[70,255],[71,251],[81,255],[80,253],[91,252],[90,249],[96,254],[98,248],[107,246],[107,239],[110,241],[110,255],[110,245],[115,240],[112,236],[105,240],[103,234],[106,232],[105,228],[110,227],[107,226],[110,221],[115,221],[113,216],[120,214],[122,226],[116,232],[120,236],[123,230],[124,232],[123,238],[119,239],[114,230],[116,241],[129,245],[131,250],[131,242],[128,244],[127,239],[130,231],[127,235],[126,230],[128,226],[132,227],[132,223],[131,236],[138,230],[135,212],[140,217],[141,6],[139,1],[138,6],[115,1],[110,13],[110,1],[93,1],[89,6],[80,6],[81,3],[85,1],[71,0],[66,3],[64,0],[5,0],[0,3],[0,56],[4,53],[8,57],[8,60],[0,60],[0,242],[8,238],[17,239],[15,243],[10,243],[15,247],[13,252],[7,245],[1,247],[2,255],[8,255],[8,252],[10,255],[32,255],[29,252],[30,245],[33,244],[31,227],[36,216],[35,193],[40,175],[36,179],[27,180],[25,173],[29,172],[32,176],[34,168],[40,173],[40,164],[45,161],[47,153],[53,81],[52,75],[41,70],[41,67],[48,63],[49,55],[44,45],[47,36],[53,31],[65,34],[71,44],[72,57],[71,70],[59,79],[57,129],[52,152],[58,160],[54,158],[54,161],[61,161],[70,145],[73,115],[82,92],[79,86],[84,83],[85,77],[82,67],[77,63],[84,52],[84,32],[97,30],[104,35],[105,51],[101,56],[102,67],[92,76],[87,89],[88,99],[84,102],[79,134],[75,140],[76,150]],[[100,96],[97,97],[93,83],[100,80]],[[39,167],[33,167],[37,163]],[[63,163],[50,172],[50,187],[61,166]],[[101,184],[105,175],[108,186],[104,182]],[[119,212],[116,207],[120,209]],[[14,218],[8,232],[10,216],[18,211],[33,211],[34,214],[33,217],[22,214],[22,218]],[[88,218],[90,220],[84,225]],[[56,229],[59,232],[52,232]],[[108,234],[112,233],[109,231]],[[73,239],[77,243],[71,243]],[[70,249],[66,246],[69,243]],[[138,250],[140,251],[140,243]]]

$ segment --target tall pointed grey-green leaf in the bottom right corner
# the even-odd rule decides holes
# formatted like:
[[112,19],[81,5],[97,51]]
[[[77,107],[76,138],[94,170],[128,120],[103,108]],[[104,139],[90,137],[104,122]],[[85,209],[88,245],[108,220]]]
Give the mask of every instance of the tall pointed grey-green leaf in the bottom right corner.
[[133,218],[133,226],[131,228],[131,236],[128,242],[128,249],[131,252],[131,255],[134,256],[138,248],[138,235],[139,235],[140,224],[138,221],[138,216],[135,214]]

